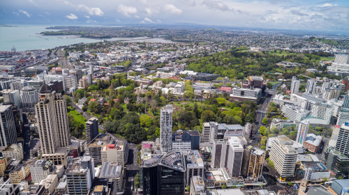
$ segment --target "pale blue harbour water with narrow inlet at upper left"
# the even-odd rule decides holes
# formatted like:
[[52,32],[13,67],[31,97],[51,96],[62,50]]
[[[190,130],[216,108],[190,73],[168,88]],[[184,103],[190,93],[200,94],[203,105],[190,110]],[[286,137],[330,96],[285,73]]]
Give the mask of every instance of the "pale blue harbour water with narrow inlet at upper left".
[[[54,26],[54,25],[52,25]],[[92,38],[80,38],[78,36],[43,36],[40,35],[47,30],[48,26],[0,26],[0,51],[10,51],[13,46],[17,51],[32,49],[51,49],[58,46],[73,45],[84,42],[100,42],[101,40]],[[163,38],[112,38],[114,41],[125,42],[171,42]]]

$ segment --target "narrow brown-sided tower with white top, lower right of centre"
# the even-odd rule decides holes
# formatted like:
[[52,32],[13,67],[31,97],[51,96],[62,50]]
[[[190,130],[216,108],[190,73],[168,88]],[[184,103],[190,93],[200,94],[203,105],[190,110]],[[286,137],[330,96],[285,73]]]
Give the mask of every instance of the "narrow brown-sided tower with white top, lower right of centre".
[[253,180],[259,180],[262,176],[263,164],[265,161],[265,150],[260,148],[253,148],[250,153],[250,160],[248,162],[247,175]]

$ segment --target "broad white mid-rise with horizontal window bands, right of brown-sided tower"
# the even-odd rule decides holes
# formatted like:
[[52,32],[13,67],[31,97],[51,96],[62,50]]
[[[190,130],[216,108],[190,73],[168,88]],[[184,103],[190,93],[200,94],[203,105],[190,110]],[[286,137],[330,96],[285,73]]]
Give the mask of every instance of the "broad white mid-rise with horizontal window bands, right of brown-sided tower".
[[298,153],[295,148],[292,148],[292,144],[292,140],[288,137],[276,137],[272,141],[269,158],[274,162],[276,172],[281,179],[292,178],[295,175]]

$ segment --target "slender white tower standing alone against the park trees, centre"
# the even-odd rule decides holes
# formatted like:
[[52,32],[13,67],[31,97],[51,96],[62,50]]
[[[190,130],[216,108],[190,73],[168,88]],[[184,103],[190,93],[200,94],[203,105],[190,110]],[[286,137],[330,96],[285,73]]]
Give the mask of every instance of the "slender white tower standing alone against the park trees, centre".
[[163,152],[172,150],[172,105],[168,104],[161,109],[160,142]]

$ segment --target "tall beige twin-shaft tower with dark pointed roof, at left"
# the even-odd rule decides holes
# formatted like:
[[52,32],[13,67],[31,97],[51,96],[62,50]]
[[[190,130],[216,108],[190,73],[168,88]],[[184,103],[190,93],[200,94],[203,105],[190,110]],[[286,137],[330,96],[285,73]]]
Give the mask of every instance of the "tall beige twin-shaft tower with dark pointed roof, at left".
[[43,154],[56,153],[57,147],[70,144],[66,100],[63,95],[51,91],[44,82],[35,105],[38,132]]

